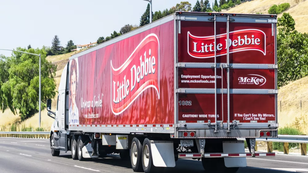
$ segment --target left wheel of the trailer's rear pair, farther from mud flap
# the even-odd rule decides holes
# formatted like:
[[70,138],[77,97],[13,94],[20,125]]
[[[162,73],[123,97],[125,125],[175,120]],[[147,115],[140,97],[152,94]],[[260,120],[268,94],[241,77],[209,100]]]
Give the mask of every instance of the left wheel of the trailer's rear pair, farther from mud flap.
[[131,165],[134,172],[142,171],[142,145],[138,138],[133,138],[131,145]]

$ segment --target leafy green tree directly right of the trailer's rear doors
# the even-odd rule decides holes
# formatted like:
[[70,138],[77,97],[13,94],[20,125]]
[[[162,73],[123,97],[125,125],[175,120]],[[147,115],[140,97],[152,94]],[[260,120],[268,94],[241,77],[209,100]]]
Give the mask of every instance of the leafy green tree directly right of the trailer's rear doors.
[[308,37],[295,30],[289,13],[278,18],[277,57],[278,86],[308,75]]

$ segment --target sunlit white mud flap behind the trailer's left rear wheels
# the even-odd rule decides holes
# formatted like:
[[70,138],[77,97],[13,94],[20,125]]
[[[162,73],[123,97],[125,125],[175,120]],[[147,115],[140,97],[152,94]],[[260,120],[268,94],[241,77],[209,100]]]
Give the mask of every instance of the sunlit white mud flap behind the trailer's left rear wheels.
[[153,164],[156,167],[175,167],[173,142],[151,140]]

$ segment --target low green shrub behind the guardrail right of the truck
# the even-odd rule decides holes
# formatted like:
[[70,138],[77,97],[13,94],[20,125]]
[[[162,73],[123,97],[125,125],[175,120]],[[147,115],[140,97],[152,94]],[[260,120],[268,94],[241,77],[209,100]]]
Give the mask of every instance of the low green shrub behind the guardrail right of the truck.
[[[292,127],[284,127],[284,128],[278,128],[278,134],[288,134],[288,135],[301,135],[302,132],[297,130],[296,128]],[[289,143],[289,148],[291,147],[298,147],[298,143]],[[283,151],[283,143],[282,142],[273,142],[273,149],[278,151]]]

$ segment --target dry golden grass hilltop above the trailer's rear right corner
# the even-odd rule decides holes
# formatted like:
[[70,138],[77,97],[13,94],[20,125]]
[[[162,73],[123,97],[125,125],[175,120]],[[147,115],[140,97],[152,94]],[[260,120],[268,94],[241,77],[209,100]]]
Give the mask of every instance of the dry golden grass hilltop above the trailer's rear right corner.
[[[224,10],[223,13],[263,13],[267,14],[267,11],[273,5],[279,5],[282,3],[290,3],[290,8],[284,12],[290,13],[295,20],[295,29],[301,33],[308,33],[308,1],[300,0],[297,3],[296,0],[253,0],[244,2],[230,10]],[[282,14],[278,14],[281,17]]]

